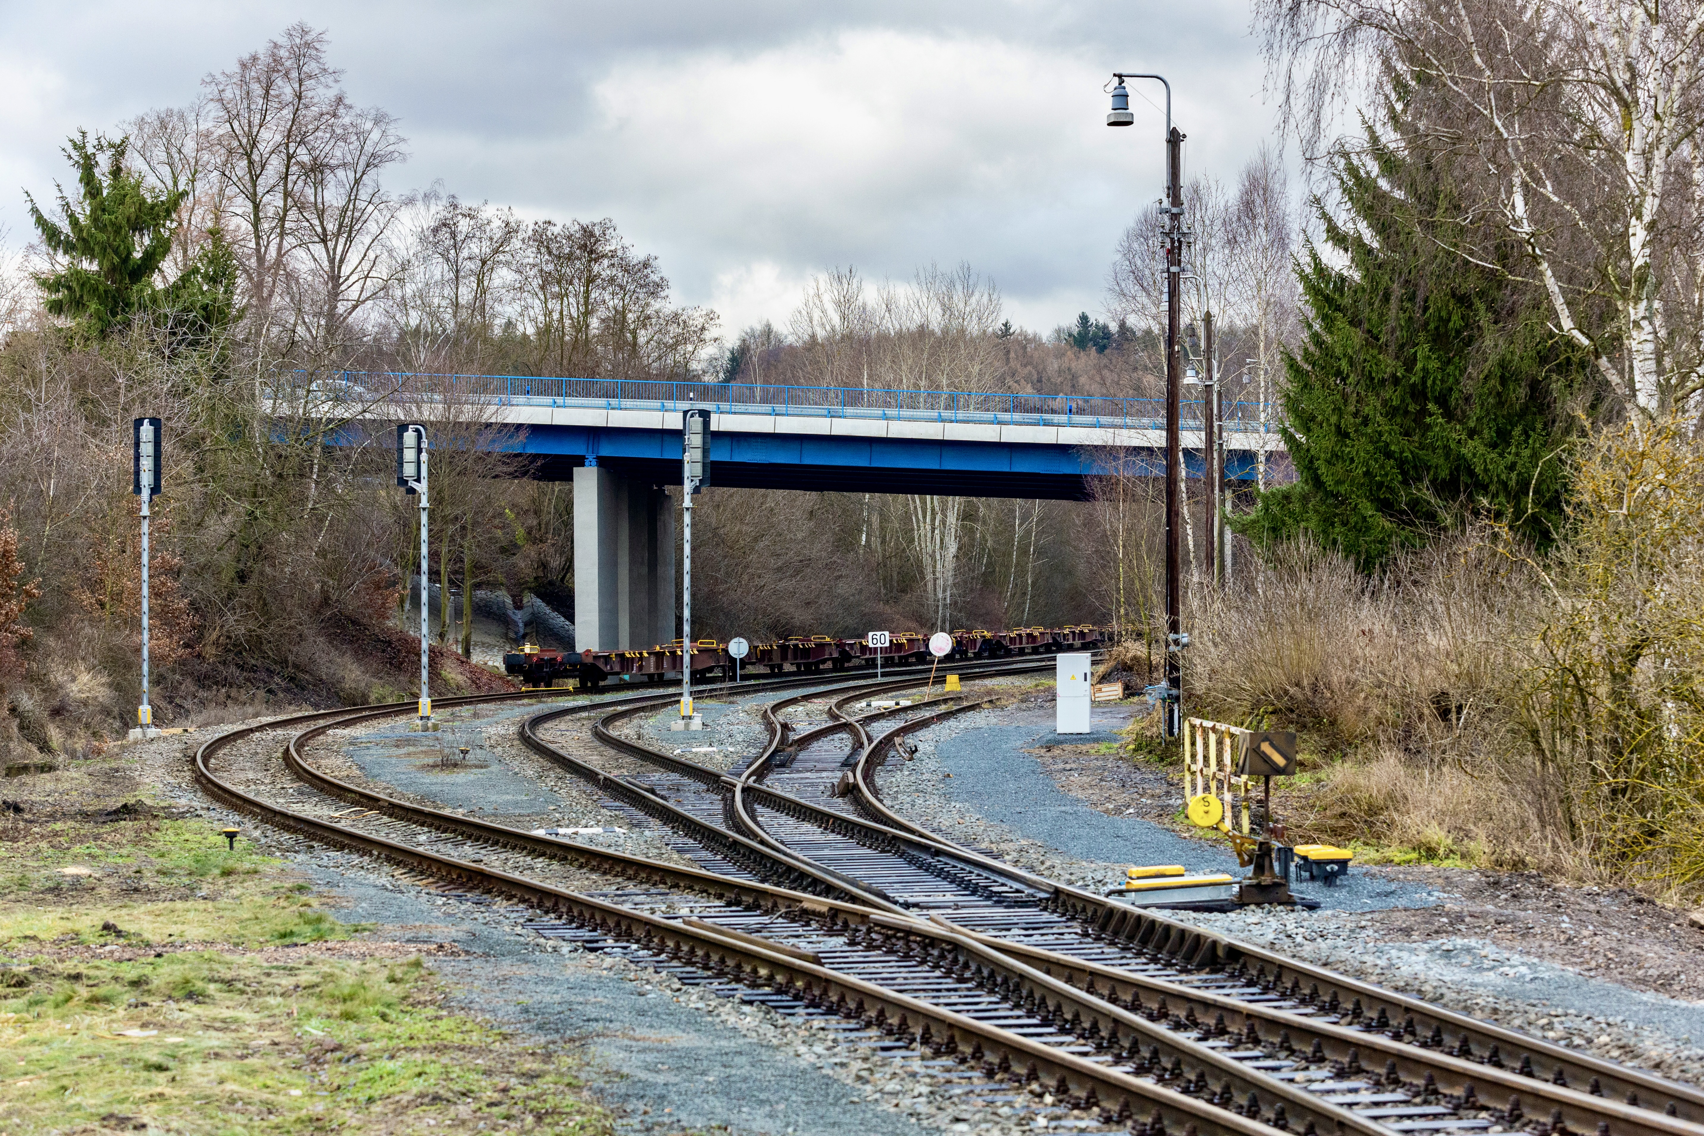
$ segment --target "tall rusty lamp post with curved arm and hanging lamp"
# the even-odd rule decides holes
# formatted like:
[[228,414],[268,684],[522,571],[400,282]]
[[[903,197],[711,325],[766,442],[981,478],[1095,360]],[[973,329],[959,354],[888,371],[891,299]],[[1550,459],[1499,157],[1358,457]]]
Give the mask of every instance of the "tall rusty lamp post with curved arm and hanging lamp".
[[1113,72],[1113,111],[1108,126],[1131,126],[1126,78],[1157,78],[1166,85],[1166,736],[1183,731],[1183,649],[1189,637],[1183,632],[1183,361],[1179,359],[1177,318],[1183,307],[1183,140],[1171,121],[1171,82],[1164,75]]

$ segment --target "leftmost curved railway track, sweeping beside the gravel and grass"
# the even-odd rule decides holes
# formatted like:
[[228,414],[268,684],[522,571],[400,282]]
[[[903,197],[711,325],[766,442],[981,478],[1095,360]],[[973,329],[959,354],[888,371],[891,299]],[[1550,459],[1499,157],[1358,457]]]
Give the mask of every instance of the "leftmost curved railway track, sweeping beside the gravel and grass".
[[[440,705],[448,709],[484,700],[446,698]],[[1031,1000],[1045,1001],[1051,995],[1056,1005],[1072,1005],[1075,995],[1043,974],[1014,967],[999,952],[971,940],[958,937],[958,947],[963,957],[978,961],[975,974],[946,981],[918,976],[915,961],[905,957],[912,940],[871,923],[888,916],[869,908],[537,838],[428,809],[332,778],[314,770],[303,756],[315,737],[332,729],[409,712],[411,703],[397,703],[354,714],[298,715],[233,731],[196,753],[196,777],[218,799],[259,814],[273,826],[383,857],[450,889],[477,889],[520,901],[537,913],[530,925],[547,937],[578,938],[593,947],[620,944],[629,959],[683,981],[796,1013],[838,1018],[838,1032],[847,1044],[900,1053],[915,1049],[918,1056],[927,1051],[930,1064],[964,1064],[968,1068],[961,1076],[988,1085],[983,1099],[990,1102],[1014,1100],[1043,1112],[1075,1107],[1109,1124],[1142,1116],[1142,1124],[1152,1133],[1179,1126],[1184,1131],[1193,1126],[1198,1133],[1244,1136],[1269,1131],[1254,1116],[1225,1112],[1131,1076],[1128,1066],[1048,1025],[1046,1013],[990,1013],[990,1003],[1002,1000],[990,998],[983,986],[999,979],[1026,986]],[[268,758],[274,744],[281,746],[278,760]],[[327,800],[293,800],[291,807],[266,800],[262,794],[295,789],[279,778],[279,765]],[[349,802],[356,809],[332,807]],[[516,853],[550,867],[569,862],[598,882],[630,881],[639,886],[600,894],[574,892],[535,879],[547,874],[537,869],[521,875],[525,865],[516,862]],[[741,925],[753,930],[741,930]],[[780,925],[786,925],[786,937],[799,945],[782,942],[775,930]],[[811,945],[826,950],[826,957],[809,950]],[[869,981],[833,967],[833,962],[842,967],[859,964],[884,981]],[[927,1000],[917,996],[924,993]],[[1166,1053],[1172,1049],[1167,1042]],[[1206,1064],[1217,1061],[1205,1049],[1189,1056]],[[1191,1068],[1195,1064],[1191,1061]],[[1234,1066],[1222,1071],[1235,1076]],[[1010,1080],[1019,1088],[1031,1087],[1031,1092],[1014,1090]],[[1269,1087],[1251,1085],[1249,1092],[1283,1116],[1285,1102],[1261,1097],[1259,1088]],[[975,1092],[975,1085],[968,1085],[966,1092]],[[1292,1102],[1292,1116],[1297,1109],[1304,1116],[1317,1112],[1305,1100]]]

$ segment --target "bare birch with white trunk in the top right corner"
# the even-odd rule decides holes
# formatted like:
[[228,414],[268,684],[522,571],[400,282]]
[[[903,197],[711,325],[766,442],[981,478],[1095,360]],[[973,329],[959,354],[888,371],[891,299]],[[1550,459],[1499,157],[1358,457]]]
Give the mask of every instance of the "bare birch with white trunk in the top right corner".
[[1520,242],[1554,327],[1627,416],[1704,388],[1701,0],[1261,0],[1256,20],[1315,153],[1346,106],[1389,99],[1477,186],[1460,220]]

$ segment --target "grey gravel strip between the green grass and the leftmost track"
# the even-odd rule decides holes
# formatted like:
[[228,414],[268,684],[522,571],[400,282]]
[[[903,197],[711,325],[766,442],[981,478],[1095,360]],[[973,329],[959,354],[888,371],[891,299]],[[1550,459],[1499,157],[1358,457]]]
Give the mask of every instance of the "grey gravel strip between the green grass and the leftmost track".
[[[596,1095],[625,1133],[716,1127],[740,1134],[915,1136],[951,1131],[922,1078],[898,1078],[891,1063],[826,1053],[820,1034],[763,1007],[736,1005],[663,979],[620,959],[542,942],[516,928],[518,909],[433,898],[375,870],[370,860],[310,857],[310,877],[341,901],[339,916],[377,923],[377,937],[460,947],[433,959],[452,981],[452,1008],[513,1029],[584,1046]],[[815,1053],[821,1049],[823,1053]],[[825,1063],[828,1068],[823,1068]],[[862,1076],[859,1076],[862,1071]],[[883,1092],[900,1081],[901,1090]],[[915,1081],[915,1083],[913,1083]],[[874,1092],[871,1092],[874,1088]],[[867,1097],[874,1097],[869,1100]],[[920,1129],[907,1114],[922,1112]],[[946,1127],[937,1127],[946,1121]],[[971,1131],[966,1124],[964,1131]]]

